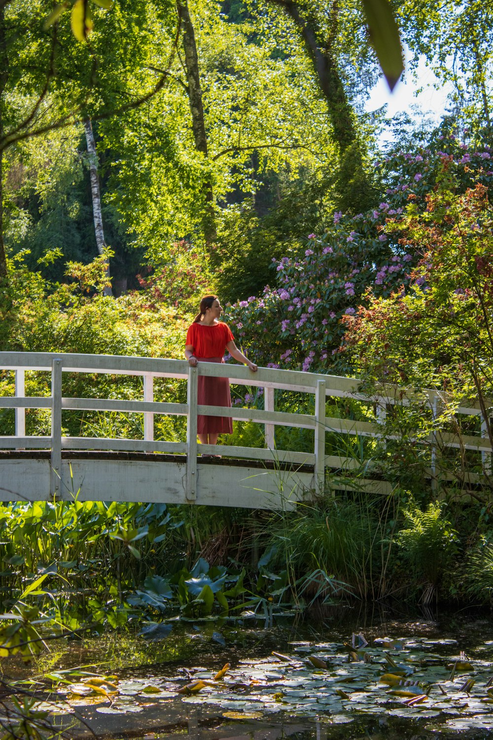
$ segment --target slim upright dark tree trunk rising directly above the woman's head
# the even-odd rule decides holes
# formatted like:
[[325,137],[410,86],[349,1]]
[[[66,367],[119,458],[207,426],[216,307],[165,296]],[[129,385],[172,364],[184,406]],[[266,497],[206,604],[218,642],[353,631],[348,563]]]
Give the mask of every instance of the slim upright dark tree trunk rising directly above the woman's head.
[[[207,132],[205,130],[202,90],[200,88],[199,57],[195,42],[194,26],[188,12],[187,0],[177,0],[177,12],[181,21],[183,52],[185,55],[188,83],[188,103],[190,105],[191,127],[194,133],[195,149],[207,159]],[[214,190],[210,176],[205,178],[203,183],[203,198],[205,201],[203,231],[205,243],[211,246],[217,238],[217,230],[214,215]]]

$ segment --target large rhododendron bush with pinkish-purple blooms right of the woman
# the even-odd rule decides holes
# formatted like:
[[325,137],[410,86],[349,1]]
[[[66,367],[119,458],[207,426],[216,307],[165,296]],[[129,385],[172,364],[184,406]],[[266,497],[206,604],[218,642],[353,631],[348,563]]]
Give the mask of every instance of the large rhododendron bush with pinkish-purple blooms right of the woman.
[[326,369],[338,354],[341,319],[367,305],[370,295],[389,297],[406,289],[422,257],[421,245],[401,240],[389,224],[404,217],[409,203],[426,211],[426,195],[443,166],[462,192],[474,182],[489,186],[489,161],[489,147],[474,149],[439,135],[428,148],[395,152],[378,163],[388,184],[378,208],[356,216],[336,212],[333,226],[311,234],[305,249],[273,260],[276,287],[228,304],[227,320],[244,351],[268,367]]

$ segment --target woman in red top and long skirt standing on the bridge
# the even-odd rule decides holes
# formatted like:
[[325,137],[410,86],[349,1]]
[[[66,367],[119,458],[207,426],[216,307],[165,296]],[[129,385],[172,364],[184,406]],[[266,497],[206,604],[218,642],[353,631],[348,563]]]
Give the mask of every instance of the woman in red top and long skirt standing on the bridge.
[[[185,357],[191,367],[197,362],[223,363],[225,349],[239,363],[245,363],[256,372],[256,365],[251,363],[234,343],[233,334],[228,324],[220,321],[222,308],[217,295],[206,295],[200,301],[200,309],[194,323],[188,327],[186,334]],[[231,394],[227,377],[207,377],[199,375],[198,403],[204,406],[228,406],[231,408]],[[197,416],[197,435],[203,445],[217,445],[220,434],[231,434],[233,420],[231,417]],[[221,457],[215,455],[214,457]]]

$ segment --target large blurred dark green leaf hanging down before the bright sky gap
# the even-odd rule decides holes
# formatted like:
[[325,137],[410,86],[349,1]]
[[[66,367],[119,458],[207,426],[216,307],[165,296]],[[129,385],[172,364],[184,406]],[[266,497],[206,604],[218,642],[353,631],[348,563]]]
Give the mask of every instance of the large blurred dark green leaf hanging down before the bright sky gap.
[[388,0],[362,0],[370,38],[390,90],[404,72],[401,38]]

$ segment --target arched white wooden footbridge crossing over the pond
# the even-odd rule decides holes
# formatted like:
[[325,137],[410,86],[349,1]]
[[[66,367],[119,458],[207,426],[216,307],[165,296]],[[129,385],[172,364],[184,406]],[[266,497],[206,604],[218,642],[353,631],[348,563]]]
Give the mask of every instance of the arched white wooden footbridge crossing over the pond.
[[[229,364],[198,363],[191,368],[184,360],[111,355],[0,352],[2,371],[15,374],[15,394],[0,396],[0,409],[15,409],[15,434],[0,437],[0,500],[118,500],[166,503],[197,503],[244,508],[292,507],[309,491],[321,489],[330,478],[333,488],[353,486],[351,470],[360,465],[354,457],[325,454],[325,435],[338,433],[357,437],[381,437],[378,420],[384,420],[389,404],[401,394],[382,391],[378,399],[361,393],[360,381],[300,371],[248,368]],[[50,394],[26,396],[27,377],[50,372]],[[26,374],[28,374],[26,376]],[[135,376],[141,379],[140,400],[119,398],[67,397],[62,393],[64,374],[97,377]],[[197,406],[199,374],[229,377],[239,386],[263,388],[264,409]],[[4,373],[4,377],[7,375]],[[186,403],[154,400],[154,380],[186,381]],[[73,384],[72,384],[73,385]],[[89,384],[86,382],[85,387]],[[275,389],[314,396],[314,413],[287,413],[274,410]],[[429,392],[435,408],[438,395]],[[353,398],[376,410],[376,420],[356,421],[326,415],[327,397]],[[50,435],[26,434],[26,409],[46,409],[51,414]],[[62,414],[66,411],[123,412],[143,414],[143,439],[110,437],[67,437]],[[198,445],[197,413],[231,416],[264,425],[265,448],[231,445]],[[480,414],[472,403],[460,406],[458,414]],[[154,416],[186,417],[186,441],[154,440]],[[299,452],[277,449],[276,425],[313,430],[313,450]],[[484,431],[484,425],[483,425]],[[472,449],[491,457],[488,440],[476,436],[442,434],[441,444]],[[222,454],[222,459],[203,458]],[[437,474],[434,463],[429,474]],[[359,478],[357,488],[388,494],[388,482]]]

